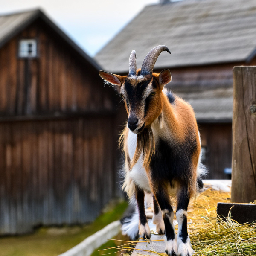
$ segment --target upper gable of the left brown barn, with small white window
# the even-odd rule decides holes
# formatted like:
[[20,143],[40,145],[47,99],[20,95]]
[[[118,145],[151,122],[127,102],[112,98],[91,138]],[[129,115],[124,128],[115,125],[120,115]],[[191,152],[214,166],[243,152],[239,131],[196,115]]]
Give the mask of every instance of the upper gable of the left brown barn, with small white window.
[[[1,16],[0,29],[1,119],[113,112],[99,65],[43,12]],[[36,55],[20,56],[33,41]]]

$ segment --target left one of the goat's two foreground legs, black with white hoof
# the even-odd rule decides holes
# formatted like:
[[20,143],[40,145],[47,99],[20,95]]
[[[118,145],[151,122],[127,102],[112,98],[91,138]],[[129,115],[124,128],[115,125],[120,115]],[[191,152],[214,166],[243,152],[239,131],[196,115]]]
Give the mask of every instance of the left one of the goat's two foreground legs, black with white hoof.
[[163,183],[154,183],[152,191],[157,199],[157,202],[162,210],[163,221],[165,226],[165,251],[169,256],[177,254],[177,236],[175,234],[175,227],[173,225],[174,212],[172,209],[170,197],[167,186]]

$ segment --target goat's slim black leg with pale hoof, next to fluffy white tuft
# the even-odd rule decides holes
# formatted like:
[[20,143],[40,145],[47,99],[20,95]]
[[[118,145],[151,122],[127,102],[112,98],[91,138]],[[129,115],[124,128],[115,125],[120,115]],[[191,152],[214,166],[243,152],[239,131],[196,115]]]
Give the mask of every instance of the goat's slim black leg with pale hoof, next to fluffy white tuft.
[[145,204],[144,204],[145,193],[137,185],[135,186],[135,196],[138,204],[138,211],[139,211],[139,217],[140,217],[140,223],[139,223],[140,237],[150,239],[151,231],[148,226],[148,221],[145,214]]

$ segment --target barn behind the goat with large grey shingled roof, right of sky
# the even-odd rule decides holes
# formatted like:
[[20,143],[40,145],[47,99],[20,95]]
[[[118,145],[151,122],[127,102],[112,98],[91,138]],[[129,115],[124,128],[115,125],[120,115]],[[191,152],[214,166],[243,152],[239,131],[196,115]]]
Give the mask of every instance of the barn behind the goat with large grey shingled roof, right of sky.
[[255,0],[160,0],[146,6],[95,56],[111,73],[128,72],[131,50],[141,67],[147,53],[164,44],[155,71],[169,68],[167,85],[194,108],[208,178],[227,179],[232,159],[233,74],[256,65]]

